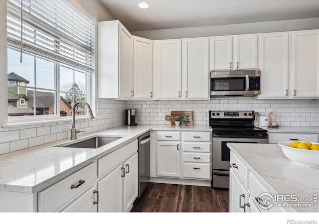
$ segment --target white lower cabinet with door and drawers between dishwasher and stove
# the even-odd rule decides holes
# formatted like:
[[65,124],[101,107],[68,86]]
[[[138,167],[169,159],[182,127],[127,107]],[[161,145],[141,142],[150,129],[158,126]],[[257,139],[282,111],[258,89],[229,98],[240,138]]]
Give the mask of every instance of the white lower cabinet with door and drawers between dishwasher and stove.
[[[211,131],[152,133],[151,181],[210,186]],[[155,149],[152,150],[152,147]]]

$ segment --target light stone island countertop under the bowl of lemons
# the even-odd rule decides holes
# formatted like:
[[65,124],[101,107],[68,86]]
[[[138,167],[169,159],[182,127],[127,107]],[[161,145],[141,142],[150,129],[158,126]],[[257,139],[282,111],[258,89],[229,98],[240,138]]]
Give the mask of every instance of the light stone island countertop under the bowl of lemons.
[[[319,169],[293,163],[284,155],[279,145],[227,143],[227,146],[264,185],[268,193],[303,196],[319,194]],[[286,209],[292,212],[319,212],[319,208],[315,209],[314,206]]]

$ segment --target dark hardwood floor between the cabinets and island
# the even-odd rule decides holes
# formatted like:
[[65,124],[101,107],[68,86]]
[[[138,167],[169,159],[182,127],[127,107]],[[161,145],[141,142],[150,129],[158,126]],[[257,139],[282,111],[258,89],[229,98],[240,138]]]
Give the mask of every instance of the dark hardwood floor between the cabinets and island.
[[[160,189],[158,199],[149,198]],[[150,183],[131,212],[229,212],[229,191],[212,187]]]

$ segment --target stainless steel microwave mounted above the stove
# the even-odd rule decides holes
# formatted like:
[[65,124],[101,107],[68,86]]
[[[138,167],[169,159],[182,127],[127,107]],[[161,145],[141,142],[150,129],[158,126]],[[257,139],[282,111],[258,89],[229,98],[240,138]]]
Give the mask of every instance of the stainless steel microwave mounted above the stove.
[[251,97],[259,93],[259,69],[210,72],[210,97]]

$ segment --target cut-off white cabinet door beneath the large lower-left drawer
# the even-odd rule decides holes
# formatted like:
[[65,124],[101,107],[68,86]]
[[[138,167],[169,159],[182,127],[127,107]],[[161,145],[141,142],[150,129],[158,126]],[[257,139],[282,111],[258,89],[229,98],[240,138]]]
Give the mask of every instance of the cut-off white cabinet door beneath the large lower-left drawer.
[[96,213],[97,204],[94,203],[97,200],[97,195],[94,193],[95,186],[92,186],[89,190],[83,193],[74,202],[64,208],[63,213]]

